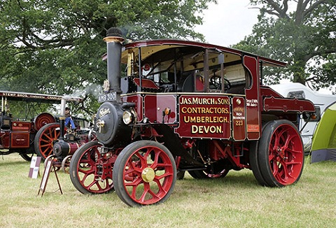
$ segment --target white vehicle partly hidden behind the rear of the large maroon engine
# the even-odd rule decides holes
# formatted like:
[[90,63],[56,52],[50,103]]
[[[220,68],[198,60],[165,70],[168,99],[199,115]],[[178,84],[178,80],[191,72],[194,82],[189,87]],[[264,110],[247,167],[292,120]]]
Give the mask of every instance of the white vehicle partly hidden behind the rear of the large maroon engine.
[[[309,87],[302,85],[301,83],[283,83],[277,85],[269,85],[273,90],[281,94],[283,97],[296,97],[297,99],[308,99],[314,103],[315,106],[320,107],[321,113],[330,106],[330,104],[336,101],[336,95],[322,94],[311,90]],[[300,120],[300,131],[302,134],[302,140],[304,144],[304,152],[309,152],[311,148],[311,138],[314,134],[316,124],[318,122],[304,122]],[[306,124],[304,126],[304,124]],[[303,129],[302,129],[303,127]]]

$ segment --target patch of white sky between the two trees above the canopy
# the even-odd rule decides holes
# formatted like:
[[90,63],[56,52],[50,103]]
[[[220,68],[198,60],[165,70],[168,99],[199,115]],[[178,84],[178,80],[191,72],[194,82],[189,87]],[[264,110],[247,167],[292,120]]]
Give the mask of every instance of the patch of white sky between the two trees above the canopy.
[[252,33],[259,10],[249,0],[218,0],[203,12],[203,24],[195,30],[204,34],[207,43],[228,47]]

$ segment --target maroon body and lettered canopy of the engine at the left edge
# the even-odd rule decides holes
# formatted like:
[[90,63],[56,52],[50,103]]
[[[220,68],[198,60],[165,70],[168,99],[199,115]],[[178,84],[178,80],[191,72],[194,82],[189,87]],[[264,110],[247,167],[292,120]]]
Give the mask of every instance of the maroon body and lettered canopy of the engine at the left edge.
[[[36,103],[59,104],[62,97],[50,94],[34,94],[26,92],[0,91],[1,114],[0,114],[0,155],[8,155],[18,152],[26,161],[36,152],[34,150],[34,137],[39,129],[45,124],[55,122],[55,117],[50,113],[34,115]],[[9,101],[12,104],[24,102],[26,113],[18,118],[12,116],[9,110]],[[21,104],[20,104],[21,105]],[[32,111],[34,110],[34,111]]]

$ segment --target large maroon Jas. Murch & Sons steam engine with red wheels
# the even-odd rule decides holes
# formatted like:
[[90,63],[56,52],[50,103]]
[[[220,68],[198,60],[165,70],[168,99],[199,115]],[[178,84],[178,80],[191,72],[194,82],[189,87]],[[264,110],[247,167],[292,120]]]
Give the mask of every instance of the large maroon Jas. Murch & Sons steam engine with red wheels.
[[251,169],[269,187],[299,180],[297,117],[309,120],[314,105],[260,85],[263,67],[286,64],[191,41],[123,45],[118,29],[104,40],[108,80],[95,117],[98,141],[71,159],[77,190],[116,190],[125,204],[141,206],[165,201],[176,171],[223,178],[230,169]]

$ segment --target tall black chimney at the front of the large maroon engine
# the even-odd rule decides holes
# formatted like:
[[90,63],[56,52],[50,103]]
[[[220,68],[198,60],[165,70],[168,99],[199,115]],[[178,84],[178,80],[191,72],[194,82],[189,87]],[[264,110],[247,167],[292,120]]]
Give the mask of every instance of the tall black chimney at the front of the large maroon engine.
[[109,92],[116,92],[116,100],[120,101],[120,65],[121,46],[125,41],[118,28],[110,28],[106,32],[104,41],[107,43],[107,79],[109,80]]

